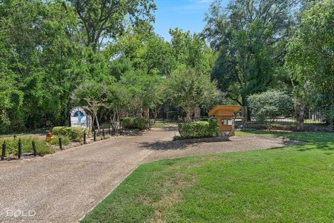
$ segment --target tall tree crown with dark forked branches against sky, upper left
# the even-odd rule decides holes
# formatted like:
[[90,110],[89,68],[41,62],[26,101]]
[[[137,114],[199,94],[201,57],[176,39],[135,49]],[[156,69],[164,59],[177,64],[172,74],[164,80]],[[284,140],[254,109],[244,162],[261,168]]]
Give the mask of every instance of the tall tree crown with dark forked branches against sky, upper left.
[[[68,0],[82,23],[86,46],[97,52],[105,38],[116,38],[125,31],[126,24],[148,26],[154,21],[153,0]],[[149,27],[149,26],[148,26]]]

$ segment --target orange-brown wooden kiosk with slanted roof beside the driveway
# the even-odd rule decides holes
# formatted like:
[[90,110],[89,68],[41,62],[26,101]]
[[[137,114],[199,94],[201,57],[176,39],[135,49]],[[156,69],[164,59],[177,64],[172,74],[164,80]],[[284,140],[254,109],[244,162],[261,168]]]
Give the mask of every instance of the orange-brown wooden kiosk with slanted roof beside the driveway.
[[210,112],[209,116],[216,116],[221,136],[234,135],[234,112],[238,112],[241,106],[238,105],[216,105]]

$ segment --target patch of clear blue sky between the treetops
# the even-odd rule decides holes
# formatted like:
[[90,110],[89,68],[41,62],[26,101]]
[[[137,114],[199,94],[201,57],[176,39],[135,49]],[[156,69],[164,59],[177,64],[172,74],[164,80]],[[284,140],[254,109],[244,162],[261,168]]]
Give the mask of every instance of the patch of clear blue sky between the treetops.
[[[180,28],[199,33],[205,26],[205,13],[214,0],[155,0],[154,31],[165,40],[170,40],[168,30]],[[225,0],[228,2],[228,0]]]

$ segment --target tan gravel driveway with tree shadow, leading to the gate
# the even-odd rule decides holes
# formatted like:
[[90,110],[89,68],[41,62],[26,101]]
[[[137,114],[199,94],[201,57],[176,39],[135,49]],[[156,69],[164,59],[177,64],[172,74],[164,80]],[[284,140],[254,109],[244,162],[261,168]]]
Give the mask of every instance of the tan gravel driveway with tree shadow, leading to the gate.
[[269,137],[170,141],[172,128],[114,137],[45,157],[0,162],[0,222],[77,222],[138,167],[171,157],[290,144]]

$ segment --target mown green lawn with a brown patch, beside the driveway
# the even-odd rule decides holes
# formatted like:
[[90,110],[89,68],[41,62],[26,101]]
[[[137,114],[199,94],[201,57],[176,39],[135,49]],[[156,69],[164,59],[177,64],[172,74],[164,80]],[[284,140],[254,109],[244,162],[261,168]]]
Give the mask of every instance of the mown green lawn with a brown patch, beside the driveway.
[[82,222],[333,222],[334,134],[310,143],[142,164]]

